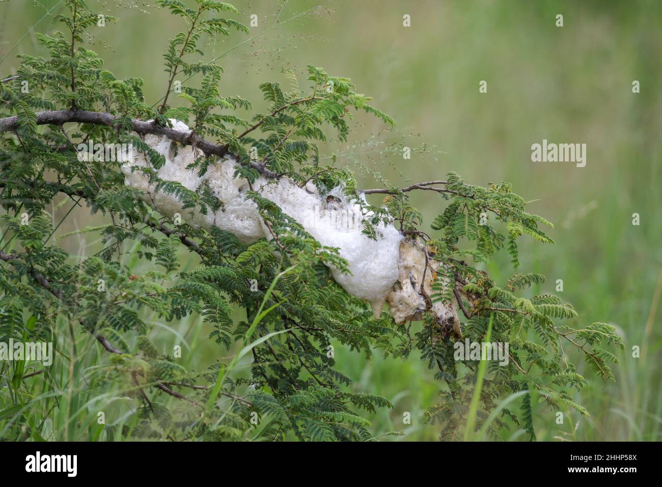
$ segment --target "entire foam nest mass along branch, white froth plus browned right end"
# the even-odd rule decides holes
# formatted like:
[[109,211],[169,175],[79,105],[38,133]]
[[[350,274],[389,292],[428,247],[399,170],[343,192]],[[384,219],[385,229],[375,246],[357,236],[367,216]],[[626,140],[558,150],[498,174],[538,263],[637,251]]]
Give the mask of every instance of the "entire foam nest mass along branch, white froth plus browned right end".
[[[175,130],[191,130],[179,121],[171,120],[171,123]],[[160,179],[179,182],[191,191],[207,184],[222,202],[220,209],[208,211],[207,215],[183,209],[175,195],[156,191],[156,183],[150,184],[148,176],[139,170],[150,163],[143,154],[138,154],[122,165],[126,185],[142,191],[142,199],[162,215],[173,217],[179,213],[193,227],[207,230],[218,227],[244,243],[273,238],[256,204],[246,199],[248,181],[233,178],[237,164],[234,158],[226,156],[200,177],[195,170],[187,169],[199,155],[195,148],[175,144],[167,136],[146,135],[144,140],[166,159],[156,171]],[[311,183],[301,188],[287,178],[262,177],[252,186],[301,223],[320,244],[339,249],[351,274],[329,265],[334,279],[352,296],[368,301],[375,318],[379,317],[384,303],[389,304],[389,312],[397,324],[420,319],[426,311],[432,311],[442,329],[459,335],[455,301],[433,303],[430,298],[432,284],[444,264],[426,257],[424,244],[405,239],[393,225],[377,227],[377,239],[369,239],[362,233],[361,221],[365,216],[361,207],[348,201],[341,187],[320,192]],[[441,281],[442,287],[454,284]]]

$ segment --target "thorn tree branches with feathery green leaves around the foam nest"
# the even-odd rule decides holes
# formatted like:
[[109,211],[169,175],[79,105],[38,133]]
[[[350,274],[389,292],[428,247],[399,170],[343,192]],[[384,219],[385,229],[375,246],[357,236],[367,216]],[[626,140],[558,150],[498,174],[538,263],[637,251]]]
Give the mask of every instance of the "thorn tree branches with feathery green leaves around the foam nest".
[[[136,431],[169,439],[242,439],[256,437],[257,431],[263,439],[372,439],[357,409],[375,411],[391,404],[349,392],[351,378],[336,370],[332,343],[356,353],[377,348],[400,357],[412,347],[420,349],[440,381],[440,399],[427,417],[442,425],[442,439],[471,439],[479,429],[498,437],[512,423],[535,439],[532,396],[587,415],[572,396],[585,379],[565,360],[562,341],[581,351],[602,380],[614,379],[606,362],[617,362],[616,357],[600,348],[622,347],[614,327],[560,324],[577,313],[557,296],[517,296],[543,282],[540,274],[516,273],[497,284],[479,270],[502,250],[516,270],[516,241],[522,235],[552,243],[539,228],[551,224],[527,213],[524,199],[509,184],[473,186],[451,172],[444,180],[406,188],[359,189],[352,172],[321,164],[316,143],[326,140],[328,129],[346,140],[354,111],[395,125],[391,117],[369,105],[347,78],[314,66],[307,68],[309,89],[286,92],[278,83],[265,82],[260,89],[269,111],[240,117],[252,109],[250,102],[222,95],[222,69],[200,60],[207,36],[248,32],[230,18],[237,13],[232,5],[158,1],[186,28],[167,44],[166,91],[150,103],[140,78],[118,80],[83,45],[85,30],[97,25],[97,13],[83,0],[65,3],[68,15],[57,17],[64,32],[36,34],[48,56],[21,56],[15,76],[0,85],[0,341],[59,343],[58,335],[66,330],[71,354],[62,351],[56,360],[73,362],[76,341],[92,335],[112,358],[107,373],[93,385],[122,384],[122,393],[141,406],[132,417]],[[178,76],[198,82],[185,82],[180,93]],[[171,106],[175,97],[184,105]],[[173,121],[191,130],[179,130]],[[81,158],[77,150],[90,141],[132,144],[148,161],[144,171],[156,190],[174,195],[183,210],[207,214],[222,209],[209,186],[191,190],[158,178],[156,170],[166,158],[148,143],[150,135],[165,136],[179,148],[193,147],[198,156],[188,170],[199,176],[223,158],[236,161],[234,178],[248,182],[246,199],[258,209],[270,238],[247,244],[213,225],[201,229],[179,221],[179,215],[160,213],[125,184],[121,161]],[[433,292],[424,296],[426,309],[416,317],[422,320],[421,331],[410,335],[413,317],[404,326],[389,313],[375,319],[363,300],[348,294],[329,269],[346,269],[338,249],[320,245],[254,190],[259,178],[287,179],[302,188],[342,187],[348,201],[361,206],[364,235],[376,240],[383,225],[397,225],[404,239],[423,248],[423,272],[434,274],[434,283]],[[409,203],[411,191],[428,191],[438,200],[440,211],[430,225],[435,233],[420,231],[422,215]],[[361,196],[369,194],[382,194],[384,200],[371,205]],[[54,244],[51,237],[59,225],[54,228],[48,209],[58,195],[73,201],[72,208],[85,205],[90,213],[107,217],[103,227],[86,229],[103,240],[94,256],[71,256]],[[180,269],[182,249],[197,254],[199,267]],[[127,259],[152,266],[136,275]],[[461,310],[459,329],[440,322],[431,311],[435,303]],[[232,319],[233,310],[242,310],[246,319]],[[236,349],[232,359],[219,358],[202,371],[185,370],[175,354],[157,350],[148,338],[150,319],[181,320],[191,313],[213,326],[211,339]],[[508,364],[469,356],[457,360],[454,345],[465,339],[508,343]],[[233,373],[250,356],[250,376]],[[45,373],[25,374],[24,367],[24,361],[0,362],[0,424],[8,437],[24,437],[24,425],[40,434],[46,417],[62,407],[54,403],[40,422],[26,419],[36,402],[58,394],[56,372],[46,368]],[[36,374],[43,383],[40,396],[26,386]],[[181,400],[182,407],[166,408],[167,396]],[[521,403],[520,411],[500,404],[509,396]],[[85,411],[69,413],[77,415],[76,421],[93,423]],[[252,417],[265,426],[256,426]],[[94,438],[101,437],[95,431]],[[111,439],[110,431],[106,437]]]

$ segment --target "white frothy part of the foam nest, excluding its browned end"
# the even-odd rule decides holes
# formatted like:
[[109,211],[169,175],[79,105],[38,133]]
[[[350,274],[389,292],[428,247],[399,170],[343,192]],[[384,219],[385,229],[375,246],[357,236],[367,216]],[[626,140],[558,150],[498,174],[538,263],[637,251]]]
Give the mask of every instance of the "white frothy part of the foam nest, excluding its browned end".
[[[171,122],[175,130],[190,131],[184,123]],[[255,203],[245,199],[248,182],[232,177],[236,160],[226,157],[209,166],[207,173],[199,177],[196,170],[186,168],[195,160],[193,148],[177,145],[175,151],[175,142],[166,136],[147,135],[144,140],[166,159],[157,171],[159,178],[179,182],[193,191],[206,181],[223,203],[221,209],[209,211],[207,215],[183,210],[175,195],[156,191],[156,184],[150,185],[148,176],[140,170],[132,170],[132,166],[149,166],[144,155],[137,154],[122,166],[125,182],[132,188],[140,189],[143,199],[160,213],[169,217],[180,213],[193,227],[210,229],[215,226],[234,233],[244,243],[252,243],[262,237],[271,239],[271,233],[258,214]],[[362,233],[361,208],[347,201],[342,188],[320,194],[312,184],[300,188],[285,178],[278,181],[259,178],[253,188],[301,223],[319,243],[339,249],[340,256],[348,262],[351,274],[330,266],[334,279],[349,294],[369,301],[375,315],[379,315],[387,294],[399,278],[399,246],[403,238],[399,231],[393,225],[378,227],[377,240],[369,239]]]

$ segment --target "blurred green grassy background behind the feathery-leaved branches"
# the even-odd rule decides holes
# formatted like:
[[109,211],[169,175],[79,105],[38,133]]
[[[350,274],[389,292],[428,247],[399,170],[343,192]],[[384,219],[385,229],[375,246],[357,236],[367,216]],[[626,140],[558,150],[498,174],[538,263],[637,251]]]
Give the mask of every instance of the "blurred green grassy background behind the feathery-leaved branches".
[[[117,25],[93,29],[88,47],[99,52],[116,76],[138,76],[156,102],[166,89],[161,53],[179,32],[177,19],[150,1],[87,0],[89,7],[119,18]],[[591,417],[571,413],[563,425],[555,411],[534,405],[538,439],[653,440],[662,433],[662,2],[659,1],[234,1],[250,34],[211,40],[205,60],[220,56],[225,94],[242,95],[262,107],[258,85],[290,81],[281,68],[302,75],[307,64],[351,78],[359,92],[398,123],[394,131],[359,115],[348,142],[329,140],[325,156],[359,174],[359,186],[383,180],[406,186],[459,173],[470,184],[512,182],[532,201],[529,211],[555,223],[557,244],[523,241],[521,269],[541,272],[547,283],[537,292],[555,292],[573,303],[578,322],[616,325],[626,349],[614,366],[616,384],[589,379],[575,399]],[[59,0],[0,3],[0,75],[13,73],[15,54],[45,54],[34,32],[55,30]],[[402,16],[410,15],[411,27]],[[563,15],[563,27],[555,16]],[[479,81],[487,93],[479,93]],[[640,93],[632,92],[638,80]],[[193,80],[189,81],[193,82]],[[242,116],[246,115],[241,114]],[[532,162],[531,145],[587,144],[587,165]],[[404,161],[399,145],[425,148]],[[330,158],[326,160],[330,162]],[[382,180],[383,178],[383,180]],[[412,194],[426,225],[442,201],[422,191]],[[66,213],[68,205],[58,209]],[[641,224],[632,225],[633,213]],[[98,225],[83,209],[58,235]],[[70,252],[89,255],[98,241],[67,237]],[[189,262],[194,265],[195,262]],[[139,264],[142,265],[142,264]],[[144,270],[144,269],[143,269]],[[512,268],[507,256],[487,269],[504,282]],[[201,329],[202,328],[202,329]],[[184,337],[186,366],[201,370],[218,358],[209,330],[191,318],[155,323],[152,336],[164,347]],[[641,357],[632,357],[632,347]],[[221,350],[222,354],[229,354]],[[90,364],[94,362],[90,359]],[[375,433],[404,430],[401,440],[428,440],[438,429],[424,423],[440,384],[413,354],[407,361],[366,358],[336,347],[342,372],[354,389],[385,396],[392,410],[371,417]],[[402,424],[410,411],[412,422]],[[523,439],[512,431],[505,439]]]

